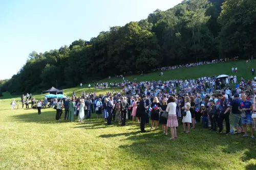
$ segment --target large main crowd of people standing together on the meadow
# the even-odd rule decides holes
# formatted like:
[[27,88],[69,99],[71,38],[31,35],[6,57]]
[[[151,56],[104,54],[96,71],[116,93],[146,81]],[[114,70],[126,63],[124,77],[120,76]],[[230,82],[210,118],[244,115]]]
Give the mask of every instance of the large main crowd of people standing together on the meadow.
[[[218,83],[224,84],[224,87]],[[230,79],[228,82],[231,84]],[[141,132],[145,125],[151,130],[162,126],[163,134],[168,134],[170,140],[177,139],[176,128],[182,124],[184,133],[190,133],[196,124],[202,121],[203,128],[226,134],[237,133],[247,137],[247,125],[250,127],[250,138],[254,138],[254,106],[256,81],[241,79],[243,89],[237,86],[231,89],[226,80],[215,77],[198,78],[195,80],[152,81],[152,82],[122,82],[122,92],[108,92],[104,95],[82,92],[78,98],[73,92],[72,98],[58,99],[56,103],[56,119],[61,118],[62,107],[65,109],[65,120],[74,121],[74,115],[79,122],[91,117],[92,113],[103,122],[111,125],[113,122],[126,125],[126,119],[140,124]],[[177,92],[177,88],[179,91]],[[221,89],[221,90],[220,90]],[[232,125],[229,115],[232,113]],[[255,117],[256,118],[256,117]],[[151,124],[150,124],[151,122]]]

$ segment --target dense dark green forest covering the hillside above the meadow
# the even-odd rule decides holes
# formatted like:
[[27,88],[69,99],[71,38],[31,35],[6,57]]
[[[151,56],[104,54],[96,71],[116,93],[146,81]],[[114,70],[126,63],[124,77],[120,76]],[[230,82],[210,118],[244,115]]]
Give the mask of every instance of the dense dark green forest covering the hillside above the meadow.
[[45,53],[33,51],[2,91],[33,92],[56,81],[58,87],[71,87],[161,66],[234,56],[247,59],[256,53],[255,30],[255,0],[184,0],[146,19],[111,27],[91,40],[75,40]]

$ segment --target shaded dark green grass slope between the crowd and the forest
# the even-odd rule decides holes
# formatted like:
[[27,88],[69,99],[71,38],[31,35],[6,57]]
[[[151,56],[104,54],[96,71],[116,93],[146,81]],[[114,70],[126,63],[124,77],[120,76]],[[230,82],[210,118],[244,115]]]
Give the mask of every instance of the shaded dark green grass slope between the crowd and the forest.
[[[133,76],[125,76],[125,80],[133,81],[137,78],[137,82],[139,81],[151,81],[151,80],[174,80],[174,79],[196,79],[204,76],[219,76],[219,75],[231,75],[232,66],[235,68],[238,67],[237,77],[244,77],[246,79],[252,79],[254,76],[251,75],[250,70],[252,67],[254,69],[256,64],[256,60],[246,63],[245,61],[230,61],[223,62],[217,64],[207,64],[195,67],[188,68],[179,68],[173,70],[165,70],[163,71],[163,76],[159,76],[161,71],[152,72],[150,74],[133,75]],[[234,76],[234,75],[233,75]],[[111,79],[103,79],[100,82],[122,82],[122,78],[112,77]],[[93,82],[92,82],[93,83]],[[92,84],[91,84],[92,85]]]

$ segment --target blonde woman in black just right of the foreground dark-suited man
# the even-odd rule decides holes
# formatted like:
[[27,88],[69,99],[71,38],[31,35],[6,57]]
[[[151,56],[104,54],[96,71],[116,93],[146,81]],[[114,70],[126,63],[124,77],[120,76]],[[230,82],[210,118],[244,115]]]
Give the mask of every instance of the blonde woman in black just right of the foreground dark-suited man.
[[159,121],[159,107],[160,107],[160,103],[157,99],[157,97],[154,98],[153,100],[153,103],[151,105],[152,107],[152,111],[151,111],[151,129],[150,130],[153,130],[153,126],[154,126],[154,123],[156,123],[156,129],[157,130],[157,127],[158,127],[158,121]]

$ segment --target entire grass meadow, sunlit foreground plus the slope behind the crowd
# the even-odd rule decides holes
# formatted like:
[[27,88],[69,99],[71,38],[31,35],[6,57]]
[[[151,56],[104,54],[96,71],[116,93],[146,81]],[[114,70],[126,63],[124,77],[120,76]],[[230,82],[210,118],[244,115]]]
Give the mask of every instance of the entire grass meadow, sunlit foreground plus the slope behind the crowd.
[[[252,78],[254,62],[229,62],[165,71],[161,78],[155,72],[138,80],[228,74],[234,64],[238,77]],[[73,90],[76,94],[109,91],[64,89],[67,95]],[[42,99],[44,94],[34,96]],[[41,115],[35,109],[10,110],[11,99],[20,98],[8,93],[0,98],[0,169],[256,169],[256,140],[216,134],[201,124],[190,134],[179,125],[178,139],[169,141],[161,129],[140,133],[135,122],[106,126],[95,114],[80,124],[57,122],[52,108],[42,109]]]

